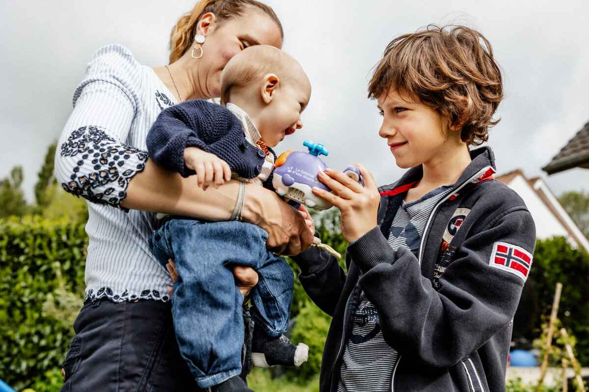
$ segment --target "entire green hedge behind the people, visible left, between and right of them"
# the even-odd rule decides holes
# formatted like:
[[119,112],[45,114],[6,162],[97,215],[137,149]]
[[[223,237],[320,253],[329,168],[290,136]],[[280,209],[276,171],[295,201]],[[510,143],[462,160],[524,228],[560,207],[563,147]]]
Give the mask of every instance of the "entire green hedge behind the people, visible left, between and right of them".
[[[339,215],[329,210],[314,216],[323,243],[343,254],[347,243]],[[57,391],[59,368],[74,336],[72,324],[84,297],[87,235],[84,223],[71,218],[11,217],[0,219],[0,378],[22,390]],[[295,274],[299,269],[288,260]],[[545,314],[557,282],[563,284],[559,317],[577,338],[578,359],[589,365],[589,255],[571,249],[562,238],[539,241],[531,279]],[[295,279],[290,336],[309,345],[309,360],[289,368],[286,377],[303,382],[319,373],[330,317],[306,296]],[[533,323],[541,325],[540,316]],[[532,330],[530,339],[539,331]]]

